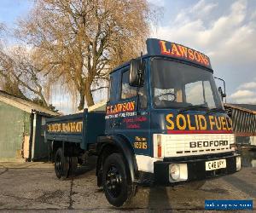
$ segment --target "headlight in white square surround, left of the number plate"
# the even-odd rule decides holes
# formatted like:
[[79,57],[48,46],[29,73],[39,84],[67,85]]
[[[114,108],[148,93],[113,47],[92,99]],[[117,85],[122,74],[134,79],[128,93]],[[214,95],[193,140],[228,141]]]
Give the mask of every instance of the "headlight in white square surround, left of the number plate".
[[188,180],[187,164],[170,164],[169,181],[186,181]]

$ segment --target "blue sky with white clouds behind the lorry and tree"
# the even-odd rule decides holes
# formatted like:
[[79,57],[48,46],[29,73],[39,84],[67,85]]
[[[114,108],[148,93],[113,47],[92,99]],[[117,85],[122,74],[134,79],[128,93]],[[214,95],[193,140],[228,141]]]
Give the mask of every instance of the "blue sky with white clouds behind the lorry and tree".
[[[181,43],[208,55],[214,76],[226,82],[227,102],[256,104],[255,0],[148,2],[153,8],[162,9],[158,26],[152,27],[150,37]],[[26,16],[32,3],[1,0],[0,22],[15,27],[16,20]],[[65,108],[61,105],[65,101],[58,100],[57,107]]]

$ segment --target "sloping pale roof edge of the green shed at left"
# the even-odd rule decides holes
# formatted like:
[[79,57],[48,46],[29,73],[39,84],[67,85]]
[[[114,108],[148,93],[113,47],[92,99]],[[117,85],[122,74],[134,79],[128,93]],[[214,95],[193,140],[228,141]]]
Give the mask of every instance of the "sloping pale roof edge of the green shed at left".
[[15,95],[10,95],[2,90],[0,90],[0,101],[3,101],[4,103],[9,104],[10,106],[17,107],[20,110],[23,110],[29,113],[32,113],[32,111],[35,111],[35,112],[48,114],[51,116],[59,115],[58,113],[53,112],[44,107],[41,107],[38,104],[33,103],[32,101],[26,101],[24,99],[16,97]]

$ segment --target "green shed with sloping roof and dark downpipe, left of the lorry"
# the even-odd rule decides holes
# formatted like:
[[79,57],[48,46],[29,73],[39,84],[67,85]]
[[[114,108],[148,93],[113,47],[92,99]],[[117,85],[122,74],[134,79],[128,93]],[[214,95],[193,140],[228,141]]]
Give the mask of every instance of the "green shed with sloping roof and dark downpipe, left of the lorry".
[[49,147],[44,143],[45,118],[57,115],[0,90],[0,161],[47,158]]

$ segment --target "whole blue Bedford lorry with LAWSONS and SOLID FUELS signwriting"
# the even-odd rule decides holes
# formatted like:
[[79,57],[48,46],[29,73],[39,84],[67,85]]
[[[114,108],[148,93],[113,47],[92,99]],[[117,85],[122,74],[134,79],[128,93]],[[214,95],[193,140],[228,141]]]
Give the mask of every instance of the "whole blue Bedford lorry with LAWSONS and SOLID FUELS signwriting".
[[96,155],[97,185],[114,206],[129,201],[137,186],[200,187],[241,170],[225,94],[207,55],[154,38],[147,50],[110,72],[105,111],[46,121],[56,176],[71,176]]

